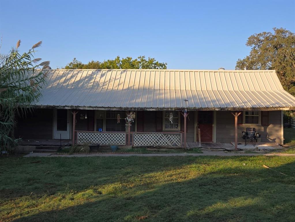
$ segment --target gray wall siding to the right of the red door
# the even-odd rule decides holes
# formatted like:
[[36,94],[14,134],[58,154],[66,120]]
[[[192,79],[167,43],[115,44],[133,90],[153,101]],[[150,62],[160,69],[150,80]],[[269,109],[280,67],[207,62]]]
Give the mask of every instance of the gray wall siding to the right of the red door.
[[[255,127],[261,134],[261,142],[282,142],[281,111],[268,112],[268,125],[238,125],[238,141],[243,142],[242,131],[246,127]],[[216,112],[216,142],[233,142],[235,140],[235,119],[230,111]]]

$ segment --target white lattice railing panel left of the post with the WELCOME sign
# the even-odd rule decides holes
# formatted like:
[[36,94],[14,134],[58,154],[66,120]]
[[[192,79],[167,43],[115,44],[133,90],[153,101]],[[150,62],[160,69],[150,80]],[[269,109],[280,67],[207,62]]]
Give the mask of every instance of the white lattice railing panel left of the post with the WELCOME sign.
[[99,143],[100,145],[125,145],[125,132],[86,132],[77,131],[77,143]]

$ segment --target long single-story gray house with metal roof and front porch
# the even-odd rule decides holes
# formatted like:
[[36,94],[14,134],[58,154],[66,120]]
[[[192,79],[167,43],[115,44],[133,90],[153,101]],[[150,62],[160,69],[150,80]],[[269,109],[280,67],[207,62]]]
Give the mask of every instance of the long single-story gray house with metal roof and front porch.
[[[18,119],[16,137],[182,146],[198,141],[199,128],[201,142],[232,142],[232,113],[241,113],[238,140],[246,127],[255,127],[261,142],[283,143],[282,112],[295,109],[295,98],[283,90],[275,70],[46,72],[43,96],[33,105],[34,112]],[[130,127],[127,115],[134,121]]]

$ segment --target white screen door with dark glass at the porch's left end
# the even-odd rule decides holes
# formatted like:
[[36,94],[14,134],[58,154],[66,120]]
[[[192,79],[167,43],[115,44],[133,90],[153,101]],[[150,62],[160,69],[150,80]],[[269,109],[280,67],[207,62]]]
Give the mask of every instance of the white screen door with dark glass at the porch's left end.
[[56,109],[54,111],[53,139],[70,139],[70,111]]

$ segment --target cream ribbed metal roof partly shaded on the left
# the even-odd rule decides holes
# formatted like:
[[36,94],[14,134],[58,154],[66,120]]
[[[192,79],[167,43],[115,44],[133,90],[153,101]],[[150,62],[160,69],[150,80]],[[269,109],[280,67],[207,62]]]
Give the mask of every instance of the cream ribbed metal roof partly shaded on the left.
[[35,105],[295,109],[275,70],[51,69]]

